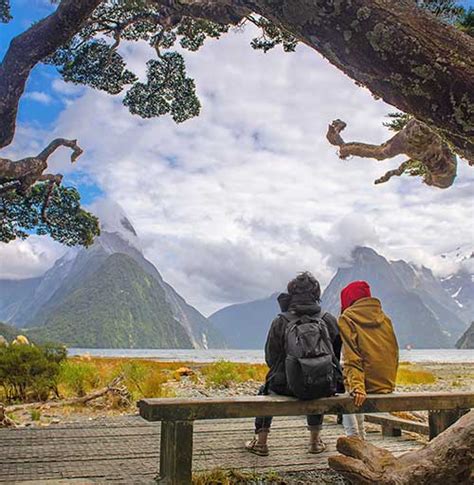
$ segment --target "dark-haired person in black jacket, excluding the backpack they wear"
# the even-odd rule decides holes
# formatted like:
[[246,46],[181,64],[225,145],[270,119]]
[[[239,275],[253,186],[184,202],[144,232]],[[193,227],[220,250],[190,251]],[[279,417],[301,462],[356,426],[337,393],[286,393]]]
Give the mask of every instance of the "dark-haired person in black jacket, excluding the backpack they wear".
[[[314,276],[305,272],[298,275],[288,283],[288,293],[278,296],[278,303],[282,313],[290,312],[296,316],[308,315],[321,318],[325,323],[331,338],[334,354],[337,360],[341,355],[341,338],[336,318],[330,313],[324,312],[319,304],[321,288]],[[284,315],[278,315],[272,322],[265,344],[265,361],[270,368],[265,379],[265,384],[260,388],[259,395],[280,394],[291,396],[288,388],[285,371],[285,331],[288,320]],[[342,392],[343,389],[341,389]],[[249,441],[246,449],[260,456],[268,455],[268,434],[272,423],[272,416],[257,417],[255,419],[255,437]],[[315,414],[307,416],[308,429],[310,431],[310,453],[321,453],[326,449],[321,440],[320,433],[323,423],[323,415]]]

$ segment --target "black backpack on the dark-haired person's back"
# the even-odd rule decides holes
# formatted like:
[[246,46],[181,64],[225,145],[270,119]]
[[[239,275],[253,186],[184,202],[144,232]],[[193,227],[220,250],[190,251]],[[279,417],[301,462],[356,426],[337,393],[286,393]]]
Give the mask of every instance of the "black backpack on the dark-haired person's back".
[[285,372],[288,388],[299,399],[317,399],[336,394],[342,377],[323,316],[283,313]]

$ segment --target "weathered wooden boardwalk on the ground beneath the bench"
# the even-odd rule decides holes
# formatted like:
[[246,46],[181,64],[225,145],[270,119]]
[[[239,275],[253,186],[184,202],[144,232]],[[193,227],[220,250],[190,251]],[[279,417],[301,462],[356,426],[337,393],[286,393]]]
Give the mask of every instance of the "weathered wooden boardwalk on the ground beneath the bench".
[[[399,438],[369,433],[371,443],[395,454],[422,446],[403,433]],[[342,426],[325,418],[323,438],[328,450],[306,452],[308,432],[303,418],[275,418],[270,456],[257,457],[243,449],[252,437],[253,420],[199,421],[194,432],[194,470],[215,467],[252,471],[301,471],[327,468],[336,452]],[[158,471],[160,423],[138,416],[51,425],[44,428],[0,429],[0,483],[122,483],[152,484]],[[44,481],[44,482],[43,482]],[[58,482],[59,481],[59,482]]]

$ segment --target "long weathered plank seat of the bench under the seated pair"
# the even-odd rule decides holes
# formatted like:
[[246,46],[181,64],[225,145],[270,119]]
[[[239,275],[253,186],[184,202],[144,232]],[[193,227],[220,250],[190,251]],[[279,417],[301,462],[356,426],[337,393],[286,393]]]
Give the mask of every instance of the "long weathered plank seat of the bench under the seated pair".
[[348,395],[299,401],[284,396],[251,396],[196,399],[142,399],[140,416],[148,421],[175,421],[251,416],[297,416],[303,414],[353,414],[426,409],[469,409],[474,392],[410,392],[369,394],[364,405],[356,407]]

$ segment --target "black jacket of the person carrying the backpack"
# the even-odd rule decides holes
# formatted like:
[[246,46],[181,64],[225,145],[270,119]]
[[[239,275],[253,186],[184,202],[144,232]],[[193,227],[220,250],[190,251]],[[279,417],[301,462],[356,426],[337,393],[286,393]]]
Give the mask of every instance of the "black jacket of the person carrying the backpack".
[[[299,316],[311,315],[316,317],[322,317],[326,322],[329,336],[332,341],[334,354],[337,360],[340,360],[342,341],[339,335],[339,329],[337,326],[336,318],[330,313],[321,310],[321,307],[317,302],[313,301],[298,301],[299,295],[290,297],[283,293],[278,297],[278,302],[282,312],[291,311]],[[285,372],[285,330],[288,324],[288,320],[282,315],[276,317],[270,327],[267,336],[267,342],[265,344],[265,361],[270,368],[268,371],[265,389],[276,392],[277,394],[283,394],[291,396],[291,392],[288,389],[286,382]],[[344,392],[341,390],[341,392]]]

